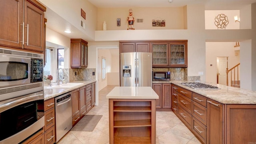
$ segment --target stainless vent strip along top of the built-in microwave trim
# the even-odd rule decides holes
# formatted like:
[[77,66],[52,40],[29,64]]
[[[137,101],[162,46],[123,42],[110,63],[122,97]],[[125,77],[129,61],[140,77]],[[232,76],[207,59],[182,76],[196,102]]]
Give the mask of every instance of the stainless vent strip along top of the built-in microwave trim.
[[33,57],[33,58],[44,58],[43,54],[35,54],[35,53],[30,53],[30,52],[22,52],[22,51],[17,51],[17,50],[6,50],[0,48],[0,54],[6,54],[10,56],[24,56],[24,57]]

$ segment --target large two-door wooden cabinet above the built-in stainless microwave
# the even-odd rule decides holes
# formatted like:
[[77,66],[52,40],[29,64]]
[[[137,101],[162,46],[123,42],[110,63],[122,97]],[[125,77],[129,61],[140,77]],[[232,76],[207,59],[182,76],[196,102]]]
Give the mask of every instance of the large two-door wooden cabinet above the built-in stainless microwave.
[[36,0],[0,0],[0,45],[44,53],[44,12]]

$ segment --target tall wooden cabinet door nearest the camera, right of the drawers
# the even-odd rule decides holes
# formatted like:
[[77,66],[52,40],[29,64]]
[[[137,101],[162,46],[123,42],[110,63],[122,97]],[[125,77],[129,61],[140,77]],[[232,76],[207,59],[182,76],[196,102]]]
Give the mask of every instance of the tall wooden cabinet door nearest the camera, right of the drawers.
[[207,99],[207,144],[224,144],[224,106]]

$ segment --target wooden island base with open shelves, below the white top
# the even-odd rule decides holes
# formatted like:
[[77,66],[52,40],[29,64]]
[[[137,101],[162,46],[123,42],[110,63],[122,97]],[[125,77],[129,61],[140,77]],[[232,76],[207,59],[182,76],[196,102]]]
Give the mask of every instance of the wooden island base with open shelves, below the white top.
[[110,144],[155,144],[155,99],[109,99]]

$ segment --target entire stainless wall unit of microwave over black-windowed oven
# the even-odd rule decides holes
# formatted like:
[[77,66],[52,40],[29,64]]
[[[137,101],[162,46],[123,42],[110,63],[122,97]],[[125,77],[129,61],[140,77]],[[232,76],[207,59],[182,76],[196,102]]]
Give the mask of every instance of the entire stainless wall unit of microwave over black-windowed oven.
[[19,144],[44,127],[43,54],[0,48],[0,144]]

